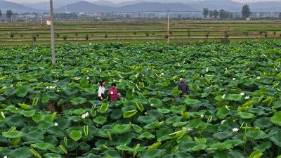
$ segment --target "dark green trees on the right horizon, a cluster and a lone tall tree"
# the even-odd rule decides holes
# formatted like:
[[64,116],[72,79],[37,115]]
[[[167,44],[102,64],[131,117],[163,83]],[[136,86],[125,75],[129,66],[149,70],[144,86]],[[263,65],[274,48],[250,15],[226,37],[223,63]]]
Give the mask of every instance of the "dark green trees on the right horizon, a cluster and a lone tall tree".
[[[251,15],[251,11],[248,5],[244,5],[242,7],[242,18],[249,18]],[[208,8],[203,8],[203,15],[204,18],[207,18],[208,16],[210,18],[220,18],[220,19],[228,19],[228,18],[233,18],[233,13],[230,11],[225,11],[221,9],[220,11],[217,11],[216,9],[214,11],[209,10]]]

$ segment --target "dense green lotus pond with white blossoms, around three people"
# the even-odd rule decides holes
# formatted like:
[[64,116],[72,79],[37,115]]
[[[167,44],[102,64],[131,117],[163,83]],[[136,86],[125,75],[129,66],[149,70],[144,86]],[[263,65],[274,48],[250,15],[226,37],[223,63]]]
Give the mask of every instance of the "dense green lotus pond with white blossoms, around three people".
[[[281,154],[280,42],[66,44],[56,52],[52,66],[46,47],[0,48],[0,157]],[[103,79],[107,89],[117,83],[122,100],[96,100]]]

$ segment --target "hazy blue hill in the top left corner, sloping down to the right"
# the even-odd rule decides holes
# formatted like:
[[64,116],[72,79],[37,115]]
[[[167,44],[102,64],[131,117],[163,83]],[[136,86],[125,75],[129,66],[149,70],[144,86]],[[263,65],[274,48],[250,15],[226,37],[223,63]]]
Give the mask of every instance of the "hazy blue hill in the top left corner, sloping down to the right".
[[9,1],[1,1],[0,0],[0,10],[2,11],[2,13],[6,13],[7,10],[12,10],[13,13],[39,13],[40,11],[34,8],[30,8],[27,6],[22,6],[20,4],[15,4],[13,2],[9,2]]

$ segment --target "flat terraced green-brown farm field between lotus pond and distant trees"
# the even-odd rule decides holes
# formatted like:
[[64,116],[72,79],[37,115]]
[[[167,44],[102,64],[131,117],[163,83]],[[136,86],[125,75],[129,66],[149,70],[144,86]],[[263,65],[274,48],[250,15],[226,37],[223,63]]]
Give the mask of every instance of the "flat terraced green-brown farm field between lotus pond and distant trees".
[[[50,28],[41,22],[1,23],[0,45],[48,45]],[[171,20],[171,44],[217,42],[228,34],[230,42],[281,39],[280,20]],[[122,41],[131,44],[164,44],[166,20],[70,20],[55,21],[58,44]]]

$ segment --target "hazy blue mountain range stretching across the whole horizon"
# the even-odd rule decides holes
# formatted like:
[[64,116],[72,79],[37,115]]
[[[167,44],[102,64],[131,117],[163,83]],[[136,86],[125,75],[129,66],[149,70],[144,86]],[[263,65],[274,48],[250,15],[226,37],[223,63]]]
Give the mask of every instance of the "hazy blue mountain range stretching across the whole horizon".
[[[90,12],[136,12],[136,11],[202,11],[203,8],[211,10],[224,9],[226,11],[240,12],[244,3],[232,0],[136,0],[122,3],[111,1],[81,1],[81,0],[55,0],[54,8],[56,13],[68,12],[90,13]],[[254,12],[281,12],[280,1],[261,1],[248,3],[251,11]],[[48,2],[15,4],[9,1],[0,0],[0,9],[5,12],[11,9],[16,13],[43,13],[48,12]]]

